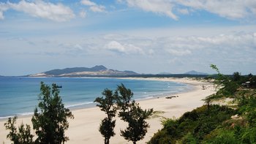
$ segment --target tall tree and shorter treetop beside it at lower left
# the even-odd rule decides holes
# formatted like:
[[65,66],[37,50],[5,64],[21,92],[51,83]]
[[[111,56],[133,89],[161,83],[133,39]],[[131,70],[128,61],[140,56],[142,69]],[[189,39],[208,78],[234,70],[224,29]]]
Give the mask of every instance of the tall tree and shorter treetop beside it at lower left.
[[33,134],[30,132],[30,126],[26,127],[21,124],[17,128],[15,122],[17,117],[9,118],[7,123],[4,124],[6,129],[10,130],[7,134],[14,144],[31,144],[31,143],[64,143],[68,140],[64,132],[68,129],[69,123],[67,118],[74,118],[69,109],[64,107],[59,96],[59,89],[53,83],[52,88],[41,82],[41,94],[39,95],[39,111],[36,108],[34,115],[31,119],[33,129],[37,134],[37,138],[33,141]]

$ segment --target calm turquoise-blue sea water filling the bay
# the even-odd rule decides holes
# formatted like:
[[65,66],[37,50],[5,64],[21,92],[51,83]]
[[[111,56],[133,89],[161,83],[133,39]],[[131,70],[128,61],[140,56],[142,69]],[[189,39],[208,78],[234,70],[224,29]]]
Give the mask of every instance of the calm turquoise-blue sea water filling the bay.
[[70,109],[92,107],[94,99],[101,96],[105,88],[115,90],[124,83],[134,93],[135,99],[148,99],[154,96],[189,91],[184,83],[156,80],[127,80],[116,78],[90,77],[0,77],[0,118],[11,115],[29,115],[38,104],[40,82],[48,85],[56,83],[65,107]]

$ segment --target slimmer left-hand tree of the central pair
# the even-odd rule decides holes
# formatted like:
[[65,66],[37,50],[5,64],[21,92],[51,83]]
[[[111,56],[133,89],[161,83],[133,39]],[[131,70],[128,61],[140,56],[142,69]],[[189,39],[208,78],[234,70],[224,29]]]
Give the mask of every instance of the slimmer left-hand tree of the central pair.
[[107,117],[102,120],[99,126],[99,132],[105,137],[105,144],[109,144],[110,137],[115,135],[114,128],[116,126],[116,120],[113,120],[113,118],[116,116],[116,98],[113,96],[113,91],[109,89],[105,89],[102,95],[105,97],[97,97],[94,102],[97,102],[97,107],[107,114]]

